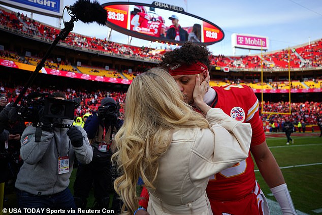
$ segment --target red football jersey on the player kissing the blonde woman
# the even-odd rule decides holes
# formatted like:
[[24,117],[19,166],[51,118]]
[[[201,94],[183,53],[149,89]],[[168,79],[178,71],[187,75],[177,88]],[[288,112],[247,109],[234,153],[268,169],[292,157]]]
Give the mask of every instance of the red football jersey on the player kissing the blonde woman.
[[[263,122],[259,116],[259,101],[246,85],[229,84],[212,87],[216,98],[211,107],[220,108],[238,121],[248,122],[252,128],[251,146],[265,141]],[[233,201],[251,194],[255,188],[254,163],[246,160],[210,177],[206,192],[210,200]],[[211,205],[212,207],[215,207]]]

